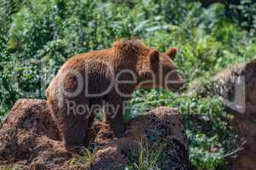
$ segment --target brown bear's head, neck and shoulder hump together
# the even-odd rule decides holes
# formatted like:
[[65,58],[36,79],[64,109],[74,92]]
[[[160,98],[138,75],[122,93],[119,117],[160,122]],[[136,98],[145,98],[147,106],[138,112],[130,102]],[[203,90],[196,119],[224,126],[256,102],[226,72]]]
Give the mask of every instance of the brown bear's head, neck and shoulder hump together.
[[113,43],[115,54],[119,54],[122,68],[136,70],[136,88],[165,88],[174,91],[183,86],[184,80],[177,74],[173,59],[177,48],[169,48],[160,53],[139,40],[117,41]]

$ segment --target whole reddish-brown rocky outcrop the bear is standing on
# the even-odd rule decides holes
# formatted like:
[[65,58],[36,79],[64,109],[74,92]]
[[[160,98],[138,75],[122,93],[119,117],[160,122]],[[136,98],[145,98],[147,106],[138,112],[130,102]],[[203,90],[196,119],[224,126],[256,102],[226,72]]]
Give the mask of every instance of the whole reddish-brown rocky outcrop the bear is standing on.
[[[69,153],[43,99],[19,99],[0,128],[0,165],[22,169],[122,169],[138,155],[160,153],[161,169],[187,169],[188,141],[177,111],[160,107],[126,124],[127,135],[115,139],[107,124],[96,121],[90,129],[96,145],[93,160],[73,165],[78,155]],[[83,164],[83,161],[79,161]]]

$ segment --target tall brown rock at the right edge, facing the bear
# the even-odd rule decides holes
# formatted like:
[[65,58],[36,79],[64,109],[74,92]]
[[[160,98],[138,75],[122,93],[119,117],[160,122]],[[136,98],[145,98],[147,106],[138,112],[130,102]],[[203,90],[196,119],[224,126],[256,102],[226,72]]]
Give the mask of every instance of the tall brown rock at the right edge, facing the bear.
[[212,82],[195,82],[192,90],[203,97],[222,96],[224,105],[234,113],[231,126],[243,149],[230,157],[230,169],[256,169],[256,59],[220,71]]

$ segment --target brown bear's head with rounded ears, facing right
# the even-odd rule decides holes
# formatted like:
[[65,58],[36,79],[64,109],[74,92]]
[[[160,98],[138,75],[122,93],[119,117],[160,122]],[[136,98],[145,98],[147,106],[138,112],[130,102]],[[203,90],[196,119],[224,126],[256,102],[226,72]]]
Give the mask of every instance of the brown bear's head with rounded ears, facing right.
[[164,88],[176,91],[184,84],[183,77],[177,73],[177,65],[173,59],[177,48],[169,48],[165,53],[160,53],[154,48],[149,48],[148,55],[144,57],[140,76],[143,77],[138,88]]

